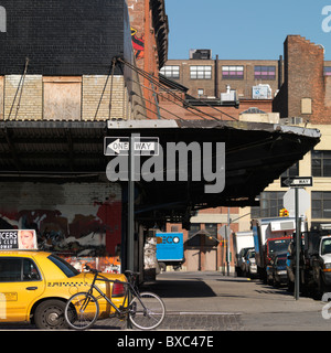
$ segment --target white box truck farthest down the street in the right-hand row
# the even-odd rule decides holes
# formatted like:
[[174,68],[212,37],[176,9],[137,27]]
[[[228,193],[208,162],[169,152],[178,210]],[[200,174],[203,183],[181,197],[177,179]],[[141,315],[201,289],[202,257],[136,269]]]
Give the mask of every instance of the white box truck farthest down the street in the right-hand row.
[[236,232],[233,234],[233,248],[235,254],[235,272],[237,277],[245,274],[245,256],[254,249],[253,232]]

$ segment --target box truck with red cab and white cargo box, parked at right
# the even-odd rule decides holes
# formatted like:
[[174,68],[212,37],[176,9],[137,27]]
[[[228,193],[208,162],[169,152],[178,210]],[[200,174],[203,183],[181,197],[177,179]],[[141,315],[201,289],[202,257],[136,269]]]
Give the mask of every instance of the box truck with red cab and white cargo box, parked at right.
[[[267,266],[271,256],[284,253],[290,244],[296,229],[295,217],[268,217],[252,220],[257,274],[267,280]],[[301,221],[301,231],[306,231],[306,222]]]

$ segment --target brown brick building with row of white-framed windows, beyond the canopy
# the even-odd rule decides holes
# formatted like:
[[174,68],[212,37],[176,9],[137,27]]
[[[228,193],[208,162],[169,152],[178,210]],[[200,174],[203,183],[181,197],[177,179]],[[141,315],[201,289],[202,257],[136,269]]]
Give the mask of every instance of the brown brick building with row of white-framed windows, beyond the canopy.
[[189,60],[168,60],[161,73],[188,87],[188,94],[194,97],[220,98],[231,86],[238,99],[253,98],[253,87],[264,84],[270,86],[268,98],[273,98],[281,86],[282,57],[244,61],[218,60],[216,55],[213,60],[211,53],[206,56],[191,53]]

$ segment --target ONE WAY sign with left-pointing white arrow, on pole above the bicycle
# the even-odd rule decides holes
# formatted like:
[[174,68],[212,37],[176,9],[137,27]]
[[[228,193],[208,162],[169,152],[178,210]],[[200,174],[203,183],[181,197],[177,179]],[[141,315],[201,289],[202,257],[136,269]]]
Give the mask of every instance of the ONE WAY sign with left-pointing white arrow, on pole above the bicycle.
[[[105,137],[104,153],[105,156],[129,156],[130,138],[129,137]],[[135,156],[159,156],[158,137],[135,137],[134,141]]]

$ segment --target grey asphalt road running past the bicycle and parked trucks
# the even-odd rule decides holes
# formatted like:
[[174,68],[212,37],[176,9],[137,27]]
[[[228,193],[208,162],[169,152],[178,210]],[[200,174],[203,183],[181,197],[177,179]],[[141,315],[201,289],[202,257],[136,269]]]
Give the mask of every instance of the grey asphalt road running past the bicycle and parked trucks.
[[[305,297],[297,301],[286,288],[258,279],[220,272],[163,272],[141,290],[158,293],[166,303],[167,317],[159,331],[331,331],[331,319],[322,317],[322,311],[329,314],[325,302]],[[8,329],[33,327],[0,325],[0,330]],[[124,331],[127,324],[107,319],[93,330]]]

